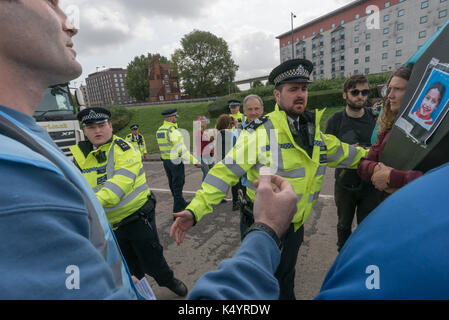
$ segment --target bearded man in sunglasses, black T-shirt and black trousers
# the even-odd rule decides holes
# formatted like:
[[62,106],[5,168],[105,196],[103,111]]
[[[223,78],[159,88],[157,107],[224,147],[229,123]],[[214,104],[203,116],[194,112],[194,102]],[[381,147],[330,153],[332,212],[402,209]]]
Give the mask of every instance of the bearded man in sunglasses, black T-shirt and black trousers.
[[[369,147],[376,119],[371,110],[365,107],[368,94],[369,83],[364,75],[348,78],[343,85],[346,108],[329,118],[326,133],[354,146]],[[338,215],[337,250],[340,251],[351,235],[354,215],[357,224],[360,224],[379,200],[374,186],[361,180],[357,170],[344,168],[335,170],[334,198]]]

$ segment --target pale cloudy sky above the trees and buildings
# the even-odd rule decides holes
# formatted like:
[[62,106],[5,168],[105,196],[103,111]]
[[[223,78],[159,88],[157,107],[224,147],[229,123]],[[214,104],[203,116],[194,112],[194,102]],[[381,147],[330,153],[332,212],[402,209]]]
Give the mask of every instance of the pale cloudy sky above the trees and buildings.
[[354,0],[61,0],[79,28],[73,38],[83,74],[126,68],[134,57],[170,59],[184,35],[208,31],[223,38],[239,66],[235,80],[265,76],[279,65],[279,36]]

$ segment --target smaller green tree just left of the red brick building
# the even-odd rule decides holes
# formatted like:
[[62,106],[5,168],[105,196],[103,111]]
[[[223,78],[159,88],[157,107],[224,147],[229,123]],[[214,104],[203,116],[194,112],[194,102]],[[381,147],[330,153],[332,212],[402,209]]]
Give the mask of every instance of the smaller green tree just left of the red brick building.
[[[154,66],[154,55],[148,53],[147,56],[137,56],[128,64],[125,88],[131,97],[138,101],[144,101],[150,96],[148,79],[148,61],[151,67]],[[164,56],[159,57],[160,63],[169,63]]]

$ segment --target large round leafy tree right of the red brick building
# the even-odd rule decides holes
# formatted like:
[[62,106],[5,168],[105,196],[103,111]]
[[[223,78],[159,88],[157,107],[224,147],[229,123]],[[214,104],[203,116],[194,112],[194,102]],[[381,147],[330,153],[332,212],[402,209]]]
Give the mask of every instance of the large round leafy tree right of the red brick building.
[[181,39],[172,55],[184,92],[191,98],[219,96],[234,88],[238,66],[228,44],[207,31],[194,30]]

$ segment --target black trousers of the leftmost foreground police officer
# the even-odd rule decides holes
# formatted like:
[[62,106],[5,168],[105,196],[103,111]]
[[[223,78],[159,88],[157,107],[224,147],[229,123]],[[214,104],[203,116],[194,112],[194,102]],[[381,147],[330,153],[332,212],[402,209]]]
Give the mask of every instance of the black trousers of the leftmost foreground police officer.
[[132,275],[141,279],[146,273],[162,287],[173,281],[173,271],[164,258],[164,249],[159,242],[155,209],[146,212],[146,219],[139,217],[120,226],[114,233]]

